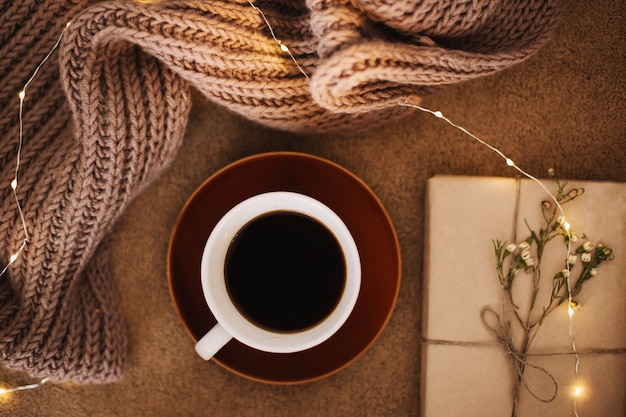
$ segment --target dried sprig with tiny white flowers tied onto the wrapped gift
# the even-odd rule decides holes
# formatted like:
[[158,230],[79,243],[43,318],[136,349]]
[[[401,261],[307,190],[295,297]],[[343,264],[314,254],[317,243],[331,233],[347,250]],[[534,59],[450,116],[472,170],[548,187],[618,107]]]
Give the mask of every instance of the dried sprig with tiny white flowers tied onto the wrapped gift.
[[[557,181],[557,185],[557,205],[572,201],[585,191],[583,188],[575,188],[566,193],[564,191],[566,183]],[[523,375],[527,366],[528,349],[545,318],[565,301],[569,301],[568,312],[570,316],[574,311],[578,310],[580,303],[572,297],[577,296],[582,291],[585,282],[598,275],[597,268],[601,263],[613,259],[613,251],[610,248],[605,247],[601,242],[596,243],[594,246],[593,242],[587,240],[584,235],[584,242],[571,253],[569,248],[572,243],[578,242],[578,237],[570,231],[569,223],[565,221],[563,216],[556,216],[557,210],[553,208],[553,204],[550,201],[541,203],[541,213],[545,221],[544,227],[540,228],[539,231],[535,231],[526,222],[529,236],[522,242],[516,244],[500,240],[493,241],[497,261],[496,271],[505,295],[503,299],[504,310],[500,317],[502,321],[501,326],[507,330],[505,332],[508,335],[508,340],[505,341],[506,345],[517,355],[517,361],[514,363],[517,379],[513,416],[516,415],[520,387],[527,387],[523,382]],[[568,247],[569,255],[565,260],[564,268],[553,275],[550,297],[547,303],[539,309],[538,296],[542,283],[541,261],[548,248],[548,243],[559,237],[563,239],[563,242]],[[580,262],[578,262],[579,257]],[[508,267],[505,267],[505,265],[508,265]],[[578,271],[578,277],[575,281],[573,281],[575,275],[574,268]],[[518,272],[520,271],[524,271],[532,279],[531,303],[525,312],[520,311],[521,308],[516,303],[513,295],[515,280],[522,279],[518,277]],[[570,285],[571,282],[574,282],[573,286]],[[508,314],[505,314],[505,312]],[[512,329],[514,328],[519,328],[523,332],[522,342],[519,347],[514,345],[511,337]],[[554,396],[547,399],[542,399],[532,392],[531,394],[541,401],[550,402],[556,397],[556,390]]]

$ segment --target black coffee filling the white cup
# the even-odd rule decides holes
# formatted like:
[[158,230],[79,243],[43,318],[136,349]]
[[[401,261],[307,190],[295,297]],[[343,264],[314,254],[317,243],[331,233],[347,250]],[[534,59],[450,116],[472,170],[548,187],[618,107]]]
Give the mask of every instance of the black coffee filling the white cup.
[[233,239],[224,270],[239,311],[274,331],[313,326],[335,308],[346,266],[333,234],[320,222],[289,211],[250,221]]

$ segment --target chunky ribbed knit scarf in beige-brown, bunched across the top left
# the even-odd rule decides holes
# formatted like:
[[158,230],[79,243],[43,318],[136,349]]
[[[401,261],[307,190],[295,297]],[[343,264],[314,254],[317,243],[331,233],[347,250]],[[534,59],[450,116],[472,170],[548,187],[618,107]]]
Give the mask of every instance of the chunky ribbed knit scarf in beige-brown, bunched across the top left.
[[26,237],[9,186],[18,92],[72,22],[26,90],[17,194],[28,240],[0,276],[5,366],[54,381],[122,376],[107,235],[181,145],[191,87],[279,129],[365,129],[433,86],[528,58],[558,14],[557,0],[254,6],[0,0],[0,268]]

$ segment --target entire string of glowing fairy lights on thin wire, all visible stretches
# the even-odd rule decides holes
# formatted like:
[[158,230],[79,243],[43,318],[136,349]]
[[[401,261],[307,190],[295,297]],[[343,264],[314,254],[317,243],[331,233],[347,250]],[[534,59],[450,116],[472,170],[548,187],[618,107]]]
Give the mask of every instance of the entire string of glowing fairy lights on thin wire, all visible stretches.
[[[272,25],[270,24],[270,22],[266,18],[266,16],[263,13],[263,11],[261,9],[259,9],[254,4],[253,0],[248,0],[248,3],[260,15],[260,17],[263,19],[265,25],[267,26],[267,28],[269,30],[269,33],[271,35],[272,40],[279,46],[280,50],[289,55],[290,59],[293,61],[293,63],[296,65],[296,67],[303,74],[304,77],[309,78],[308,74],[299,65],[298,61],[296,60],[295,56],[293,55],[293,53],[291,52],[289,47],[277,37],[277,35],[274,32],[274,28],[272,27]],[[24,239],[23,239],[21,245],[18,247],[18,249],[9,257],[8,264],[0,271],[0,278],[7,272],[9,267],[18,259],[18,257],[22,253],[22,251],[27,246],[28,240],[29,240],[28,228],[27,228],[25,216],[24,216],[24,213],[23,213],[23,210],[22,210],[22,205],[21,205],[21,202],[20,202],[20,199],[19,199],[19,196],[18,196],[19,171],[20,171],[20,162],[21,162],[20,158],[21,158],[22,146],[23,146],[23,142],[24,142],[24,129],[23,129],[24,102],[25,102],[25,99],[27,97],[27,89],[28,89],[30,83],[35,79],[35,77],[39,73],[40,69],[45,65],[45,63],[49,60],[51,55],[59,47],[59,45],[61,43],[61,40],[62,40],[66,30],[69,28],[70,24],[71,24],[71,20],[65,25],[63,31],[59,35],[59,37],[58,37],[56,43],[54,44],[54,46],[52,47],[52,49],[50,49],[50,51],[46,54],[46,56],[37,65],[37,67],[33,71],[33,74],[31,75],[31,77],[24,84],[22,90],[18,93],[18,98],[19,98],[19,137],[18,137],[18,147],[17,147],[17,153],[16,153],[15,175],[14,175],[13,179],[10,182],[10,187],[11,187],[12,192],[13,192],[13,197],[14,197],[15,204],[16,204],[16,207],[17,207],[16,210],[17,210],[17,212],[19,214],[19,219],[21,221],[21,226],[23,228]],[[411,108],[414,108],[416,110],[419,110],[419,111],[431,114],[432,116],[435,116],[436,118],[438,118],[440,120],[443,120],[444,122],[446,122],[447,124],[449,124],[453,128],[463,132],[465,135],[469,136],[470,138],[472,138],[473,140],[475,140],[479,144],[485,146],[486,148],[488,148],[491,151],[493,151],[494,153],[496,153],[499,157],[501,157],[504,160],[504,162],[505,162],[505,164],[507,166],[517,170],[521,175],[523,175],[526,178],[531,179],[536,184],[538,184],[550,196],[550,198],[555,202],[556,207],[558,208],[558,210],[560,211],[560,213],[562,215],[562,218],[563,219],[565,218],[565,212],[563,210],[563,207],[558,202],[557,198],[547,189],[547,187],[543,184],[543,182],[541,182],[539,179],[537,179],[536,177],[534,177],[533,175],[529,174],[528,172],[526,172],[525,170],[520,168],[518,165],[516,165],[515,162],[511,158],[506,156],[500,149],[490,145],[485,140],[483,140],[480,137],[476,136],[475,134],[471,133],[465,127],[460,126],[460,125],[454,123],[448,117],[444,116],[443,113],[440,112],[440,111],[433,111],[433,110],[428,109],[426,107],[420,106],[416,102],[412,102],[410,100],[405,100],[403,102],[400,102],[400,103],[398,103],[398,105],[399,106],[405,106],[405,107],[411,107]],[[566,221],[563,220],[563,225],[564,225],[564,228],[565,228],[566,232],[569,235],[570,234],[570,231],[569,231],[570,225],[569,225],[569,223],[567,223]],[[569,256],[571,254],[571,247],[570,247],[570,243],[569,243],[570,241],[571,241],[571,239],[568,239],[567,254],[566,254],[566,258],[565,259],[569,259]],[[570,268],[569,262],[565,262],[565,264],[567,265],[566,268],[568,269],[568,272],[569,272],[569,268]],[[571,295],[569,274],[567,274],[566,283],[567,283],[567,292],[568,292],[568,297],[569,297],[569,303],[568,303],[569,336],[571,338],[572,353],[574,354],[574,356],[576,358],[576,362],[575,362],[575,385],[574,385],[574,392],[573,392],[573,410],[574,410],[574,415],[576,417],[578,417],[578,412],[577,412],[577,407],[576,407],[576,398],[581,394],[582,388],[581,388],[580,383],[579,383],[579,380],[580,380],[580,373],[579,373],[580,357],[579,357],[577,349],[576,349],[576,342],[575,342],[575,338],[574,338],[574,330],[573,330],[574,329],[574,323],[573,323],[574,309],[572,308],[572,295]],[[14,393],[14,392],[18,392],[18,391],[36,389],[36,388],[41,387],[43,384],[47,383],[49,380],[50,379],[48,377],[46,377],[46,378],[41,379],[39,382],[36,382],[36,383],[33,383],[33,384],[21,385],[21,386],[16,386],[16,387],[12,387],[12,388],[0,387],[0,396],[4,396],[4,395],[10,394],[10,393]]]

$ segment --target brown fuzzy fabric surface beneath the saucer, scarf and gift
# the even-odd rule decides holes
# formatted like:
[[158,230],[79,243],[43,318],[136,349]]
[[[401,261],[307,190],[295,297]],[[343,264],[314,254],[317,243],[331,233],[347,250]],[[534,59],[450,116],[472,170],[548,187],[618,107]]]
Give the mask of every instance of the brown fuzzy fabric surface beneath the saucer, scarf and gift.
[[[448,87],[425,105],[535,175],[553,167],[567,179],[626,181],[625,8],[621,1],[572,1],[553,41],[529,61]],[[252,382],[203,362],[178,321],[166,276],[169,236],[194,189],[239,158],[274,150],[318,155],[360,176],[387,207],[402,247],[400,296],[380,339],[340,373],[296,386]],[[0,415],[419,415],[424,191],[435,174],[514,172],[418,111],[365,133],[307,136],[259,127],[196,95],[174,164],[117,226],[112,266],[129,334],[123,381],[44,385],[1,402]],[[32,382],[4,370],[0,381]]]

